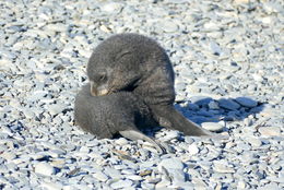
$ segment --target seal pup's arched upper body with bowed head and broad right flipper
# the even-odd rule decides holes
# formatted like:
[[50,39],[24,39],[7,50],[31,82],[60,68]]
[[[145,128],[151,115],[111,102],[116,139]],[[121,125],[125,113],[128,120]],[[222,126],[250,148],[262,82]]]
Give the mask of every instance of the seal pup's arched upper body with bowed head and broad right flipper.
[[100,43],[87,62],[91,94],[133,92],[151,108],[159,126],[185,135],[211,135],[174,107],[174,70],[165,50],[138,34],[118,34]]

